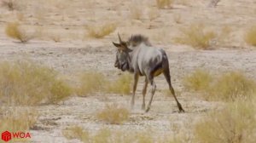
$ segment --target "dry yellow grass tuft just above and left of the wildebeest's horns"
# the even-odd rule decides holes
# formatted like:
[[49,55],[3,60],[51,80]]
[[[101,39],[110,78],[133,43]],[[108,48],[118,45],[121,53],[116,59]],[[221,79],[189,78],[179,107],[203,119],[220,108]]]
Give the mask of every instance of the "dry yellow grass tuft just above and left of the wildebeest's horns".
[[102,38],[115,31],[116,27],[114,23],[105,23],[100,26],[87,26],[86,30],[89,37]]

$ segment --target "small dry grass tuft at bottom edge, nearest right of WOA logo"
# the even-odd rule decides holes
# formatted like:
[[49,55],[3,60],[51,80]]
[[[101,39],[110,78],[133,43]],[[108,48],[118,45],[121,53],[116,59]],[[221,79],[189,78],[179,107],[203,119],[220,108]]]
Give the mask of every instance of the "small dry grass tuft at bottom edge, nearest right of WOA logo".
[[89,141],[89,133],[84,131],[79,126],[70,127],[62,130],[62,134],[67,138],[67,140],[79,139],[83,142]]

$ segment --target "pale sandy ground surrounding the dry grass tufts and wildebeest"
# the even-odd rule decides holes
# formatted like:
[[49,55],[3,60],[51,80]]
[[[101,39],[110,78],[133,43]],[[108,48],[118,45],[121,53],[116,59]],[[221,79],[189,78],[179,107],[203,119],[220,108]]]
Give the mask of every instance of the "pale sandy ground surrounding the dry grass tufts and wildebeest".
[[[177,134],[178,127],[184,134],[188,134],[189,139],[193,124],[206,112],[218,108],[221,103],[202,100],[198,94],[185,91],[182,84],[185,75],[197,68],[205,68],[216,75],[241,71],[256,79],[256,50],[243,41],[244,31],[256,23],[256,3],[253,0],[221,1],[216,8],[207,8],[207,0],[183,0],[175,3],[172,9],[161,9],[160,16],[152,21],[148,20],[147,10],[155,8],[154,1],[140,3],[141,9],[145,9],[141,20],[131,20],[130,1],[73,0],[70,1],[71,5],[60,3],[61,1],[57,1],[57,4],[49,2],[51,1],[26,2],[26,10],[21,11],[26,20],[21,23],[31,26],[32,29],[41,27],[45,32],[58,33],[61,43],[55,43],[46,37],[33,39],[29,43],[17,43],[6,37],[4,27],[7,22],[17,19],[18,12],[1,8],[1,61],[33,60],[52,67],[73,82],[76,82],[79,72],[91,69],[103,72],[108,77],[117,77],[120,72],[113,67],[115,49],[111,41],[117,41],[117,32],[124,38],[142,33],[148,36],[155,46],[166,50],[170,60],[172,83],[181,93],[178,100],[186,112],[178,113],[174,99],[161,92],[162,89],[167,89],[167,85],[164,77],[160,76],[155,78],[157,91],[151,110],[144,113],[141,110],[141,78],[137,88],[136,106],[131,110],[128,122],[109,125],[97,120],[95,115],[107,103],[118,103],[130,109],[131,96],[100,93],[89,97],[73,97],[59,105],[35,107],[40,117],[36,124],[38,129],[31,131],[32,142],[79,142],[66,140],[61,134],[62,129],[73,125],[79,125],[91,132],[104,127],[138,131],[151,129],[155,137]],[[40,4],[44,7],[41,8]],[[34,8],[35,5],[38,9]],[[48,7],[49,5],[51,7]],[[41,9],[46,9],[46,12],[41,14]],[[37,14],[43,15],[43,18],[38,18]],[[181,23],[175,22],[177,15],[180,15]],[[116,31],[102,39],[84,38],[84,25],[105,21],[116,22]],[[203,22],[217,32],[223,26],[229,26],[231,32],[225,39],[228,42],[218,43],[212,46],[211,50],[195,50],[186,45],[172,43],[172,38],[179,34],[179,28],[188,27],[195,22]]]

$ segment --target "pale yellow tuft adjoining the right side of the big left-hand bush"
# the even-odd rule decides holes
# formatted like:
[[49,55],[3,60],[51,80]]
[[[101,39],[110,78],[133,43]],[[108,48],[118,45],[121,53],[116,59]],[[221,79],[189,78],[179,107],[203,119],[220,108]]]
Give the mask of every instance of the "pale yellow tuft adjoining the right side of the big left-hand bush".
[[105,91],[108,83],[106,77],[99,72],[84,72],[80,78],[80,86],[77,94],[88,95],[95,94],[99,91]]

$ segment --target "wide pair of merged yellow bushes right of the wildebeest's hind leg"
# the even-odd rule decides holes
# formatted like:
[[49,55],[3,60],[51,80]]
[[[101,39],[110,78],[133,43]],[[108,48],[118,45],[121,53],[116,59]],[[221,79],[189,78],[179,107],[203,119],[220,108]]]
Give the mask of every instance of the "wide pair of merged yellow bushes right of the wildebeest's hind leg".
[[241,72],[212,77],[208,72],[196,70],[184,78],[183,84],[186,89],[205,92],[206,100],[248,100],[256,93],[256,83]]

